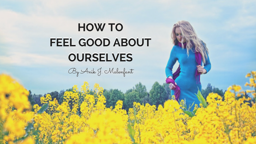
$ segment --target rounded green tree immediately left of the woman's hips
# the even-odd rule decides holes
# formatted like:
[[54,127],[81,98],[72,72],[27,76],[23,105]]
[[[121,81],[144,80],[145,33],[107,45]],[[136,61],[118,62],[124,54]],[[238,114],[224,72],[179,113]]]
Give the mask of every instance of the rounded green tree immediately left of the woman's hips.
[[152,89],[149,91],[149,99],[153,105],[158,107],[158,105],[162,105],[168,99],[165,88],[160,85],[157,81],[152,86]]

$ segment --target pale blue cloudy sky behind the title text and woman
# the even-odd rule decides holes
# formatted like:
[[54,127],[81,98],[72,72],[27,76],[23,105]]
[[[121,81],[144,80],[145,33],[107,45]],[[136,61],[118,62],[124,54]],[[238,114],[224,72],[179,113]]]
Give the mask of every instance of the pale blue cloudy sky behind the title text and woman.
[[[173,44],[171,29],[177,21],[189,21],[207,44],[211,70],[201,75],[222,90],[241,85],[243,90],[256,70],[255,0],[0,0],[0,74],[11,75],[35,94],[61,91],[84,81],[93,89],[126,92],[141,82],[150,91],[157,81],[165,83],[165,67]],[[106,24],[103,31],[78,31],[78,23]],[[122,24],[111,31],[109,23]],[[120,29],[120,25],[117,27]],[[91,28],[91,26],[89,26]],[[75,47],[50,46],[51,37],[72,38]],[[80,38],[108,38],[107,47],[81,47]],[[149,45],[113,46],[115,39],[151,38]],[[70,42],[70,41],[69,41]],[[63,44],[63,43],[62,43]],[[108,53],[111,62],[69,61],[70,53]],[[112,53],[132,53],[132,61],[114,61]],[[106,59],[106,54],[105,54]],[[175,64],[174,69],[178,67]],[[96,74],[69,74],[94,70]],[[102,74],[97,75],[97,70]],[[133,69],[133,74],[105,74],[103,70]]]

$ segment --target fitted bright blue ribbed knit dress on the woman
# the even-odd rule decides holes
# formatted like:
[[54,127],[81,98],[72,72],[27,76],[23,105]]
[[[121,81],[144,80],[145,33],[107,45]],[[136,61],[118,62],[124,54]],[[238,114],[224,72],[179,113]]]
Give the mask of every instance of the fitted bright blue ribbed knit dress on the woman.
[[[207,54],[208,57],[208,54]],[[176,61],[180,63],[181,72],[180,75],[176,78],[175,82],[181,89],[181,95],[179,101],[186,99],[187,108],[192,105],[191,111],[193,111],[195,104],[199,107],[199,100],[195,94],[197,94],[198,88],[201,91],[202,85],[201,83],[196,82],[195,73],[197,70],[197,62],[195,58],[195,53],[192,52],[192,49],[189,50],[189,56],[187,56],[187,49],[181,48],[178,45],[173,46],[171,49],[170,58],[168,60],[167,66],[165,68],[165,74],[167,78],[172,76],[172,74],[176,71],[176,69],[172,70]],[[205,59],[206,63],[204,64],[204,69],[206,69],[207,73],[211,69],[210,59]],[[203,62],[203,59],[202,59]],[[201,62],[201,65],[202,65]],[[202,77],[202,75],[201,75]],[[198,88],[197,88],[198,87]],[[174,91],[171,90],[171,95],[174,95]]]

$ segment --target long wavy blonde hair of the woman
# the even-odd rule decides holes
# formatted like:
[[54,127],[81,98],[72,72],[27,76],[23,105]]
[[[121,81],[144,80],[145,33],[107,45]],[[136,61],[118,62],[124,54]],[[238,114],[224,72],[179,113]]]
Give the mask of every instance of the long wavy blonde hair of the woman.
[[[193,52],[201,53],[203,58],[203,63],[205,64],[205,58],[208,59],[207,57],[207,53],[209,53],[208,48],[206,47],[206,44],[203,43],[203,41],[197,37],[196,31],[188,21],[178,21],[173,25],[173,28],[171,31],[171,39],[173,44],[174,45],[178,44],[178,40],[175,34],[175,29],[177,27],[181,29],[181,34],[182,34],[181,42],[184,42],[184,40],[187,42],[187,56],[189,56],[189,53],[188,53],[189,50],[194,46]],[[181,44],[182,44],[182,48],[184,48],[183,43]]]

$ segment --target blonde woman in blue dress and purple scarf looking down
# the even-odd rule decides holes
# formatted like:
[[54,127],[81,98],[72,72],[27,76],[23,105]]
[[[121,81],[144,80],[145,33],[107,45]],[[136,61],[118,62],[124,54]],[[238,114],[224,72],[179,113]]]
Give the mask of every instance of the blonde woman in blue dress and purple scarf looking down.
[[[170,59],[165,68],[167,80],[170,83],[171,94],[176,94],[176,100],[186,101],[187,108],[195,104],[199,107],[197,99],[198,89],[201,91],[200,75],[207,74],[211,69],[210,59],[208,57],[208,48],[198,37],[188,21],[178,21],[174,24],[171,32],[171,39],[174,44],[171,49]],[[179,68],[173,74],[173,65],[178,60]],[[202,66],[204,64],[204,67]],[[180,91],[178,91],[178,87]],[[174,93],[173,90],[176,90]],[[178,97],[179,96],[179,97]]]

